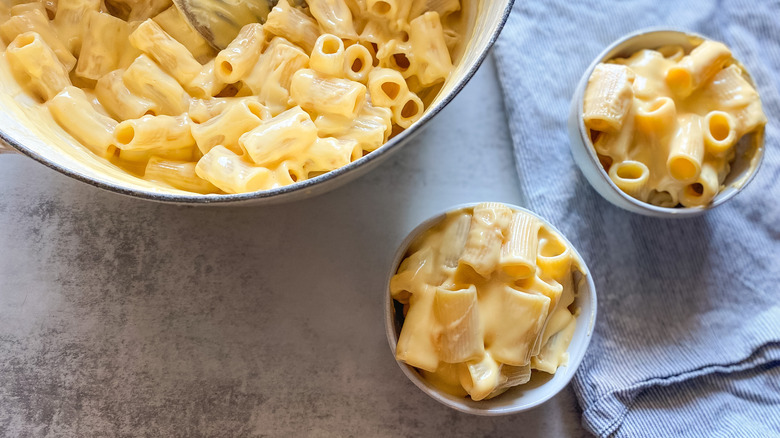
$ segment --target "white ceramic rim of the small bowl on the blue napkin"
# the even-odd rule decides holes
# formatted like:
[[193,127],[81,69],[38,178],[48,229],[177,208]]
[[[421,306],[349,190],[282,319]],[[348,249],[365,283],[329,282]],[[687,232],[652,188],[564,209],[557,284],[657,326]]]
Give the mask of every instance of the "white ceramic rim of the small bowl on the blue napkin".
[[[585,143],[586,149],[588,150],[588,154],[587,155],[588,155],[588,157],[590,157],[591,165],[596,166],[598,168],[599,175],[604,180],[604,182],[607,183],[618,195],[620,195],[621,198],[623,198],[625,201],[633,204],[639,210],[645,210],[647,212],[652,212],[656,216],[683,218],[683,217],[689,217],[689,216],[698,216],[703,211],[713,209],[713,208],[715,208],[715,207],[725,203],[729,199],[731,199],[734,196],[736,196],[739,192],[741,192],[742,189],[744,189],[744,187],[747,186],[753,180],[753,178],[755,178],[756,173],[758,173],[758,169],[761,167],[761,164],[764,161],[764,153],[763,153],[764,149],[763,149],[763,147],[759,148],[756,151],[756,154],[758,154],[758,162],[754,166],[754,168],[751,171],[751,173],[744,179],[744,181],[742,181],[741,186],[739,188],[737,188],[735,190],[731,190],[730,192],[724,194],[723,196],[719,196],[719,197],[716,196],[716,198],[713,199],[713,201],[709,205],[703,206],[703,207],[680,207],[680,208],[677,208],[677,207],[673,207],[673,208],[659,207],[657,205],[653,205],[653,204],[649,204],[649,203],[646,203],[646,202],[642,202],[642,201],[640,201],[640,200],[638,200],[636,198],[633,198],[633,197],[629,196],[628,194],[626,194],[625,192],[623,192],[622,190],[620,190],[620,188],[618,188],[617,185],[615,185],[615,183],[609,177],[607,172],[604,170],[604,167],[601,165],[601,162],[599,162],[598,156],[596,155],[596,150],[593,147],[593,143],[590,140],[590,136],[588,135],[588,130],[587,130],[587,128],[585,128],[585,122],[583,121],[583,118],[582,118],[582,111],[583,111],[582,106],[583,106],[583,99],[584,99],[584,94],[585,94],[585,88],[587,86],[588,79],[590,78],[591,74],[593,73],[593,70],[596,68],[596,66],[600,62],[606,60],[608,57],[614,56],[614,55],[611,55],[611,53],[616,48],[618,48],[619,46],[627,43],[628,41],[630,41],[630,40],[632,40],[634,38],[643,37],[643,36],[647,36],[647,35],[652,35],[654,33],[669,33],[669,32],[679,33],[679,34],[683,34],[683,35],[688,36],[688,37],[698,38],[698,39],[702,39],[702,40],[712,40],[712,38],[706,37],[704,35],[698,34],[696,32],[690,31],[690,30],[686,30],[686,29],[673,29],[673,28],[666,28],[666,27],[652,27],[652,28],[642,29],[642,30],[630,33],[628,35],[625,35],[625,36],[619,38],[618,40],[616,40],[615,42],[613,42],[612,44],[610,44],[606,49],[604,49],[596,57],[596,59],[593,61],[593,63],[590,64],[588,69],[585,71],[585,74],[582,75],[582,78],[580,79],[579,84],[577,85],[577,94],[574,97],[574,101],[577,102],[577,105],[579,105],[579,108],[578,108],[578,115],[579,115],[579,117],[578,117],[578,125],[577,126],[579,128],[580,137],[581,137],[582,141]],[[747,70],[746,70],[746,72],[747,72]],[[749,75],[750,73],[747,72],[747,74]],[[752,81],[752,79],[751,79],[751,81]]]

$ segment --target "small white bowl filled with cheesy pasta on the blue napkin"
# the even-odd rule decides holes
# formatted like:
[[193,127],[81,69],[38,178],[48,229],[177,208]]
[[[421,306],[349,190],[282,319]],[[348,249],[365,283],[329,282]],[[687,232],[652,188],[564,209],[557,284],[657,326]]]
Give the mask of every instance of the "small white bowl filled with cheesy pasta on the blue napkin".
[[640,214],[701,214],[738,193],[763,157],[766,116],[724,44],[644,31],[583,75],[569,118],[572,154],[591,185]]

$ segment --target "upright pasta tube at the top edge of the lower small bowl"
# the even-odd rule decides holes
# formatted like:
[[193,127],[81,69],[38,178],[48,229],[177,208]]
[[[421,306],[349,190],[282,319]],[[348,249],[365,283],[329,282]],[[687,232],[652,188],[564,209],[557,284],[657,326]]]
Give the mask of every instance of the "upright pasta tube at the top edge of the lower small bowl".
[[460,263],[488,278],[495,271],[501,257],[504,235],[512,222],[512,210],[499,203],[474,207],[466,249]]

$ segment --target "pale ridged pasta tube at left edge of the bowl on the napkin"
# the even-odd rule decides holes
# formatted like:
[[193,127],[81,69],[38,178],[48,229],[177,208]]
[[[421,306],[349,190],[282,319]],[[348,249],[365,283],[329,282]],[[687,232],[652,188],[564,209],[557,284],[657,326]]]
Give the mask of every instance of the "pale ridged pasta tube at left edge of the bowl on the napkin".
[[585,91],[585,126],[602,132],[620,131],[631,109],[635,77],[624,65],[597,65]]

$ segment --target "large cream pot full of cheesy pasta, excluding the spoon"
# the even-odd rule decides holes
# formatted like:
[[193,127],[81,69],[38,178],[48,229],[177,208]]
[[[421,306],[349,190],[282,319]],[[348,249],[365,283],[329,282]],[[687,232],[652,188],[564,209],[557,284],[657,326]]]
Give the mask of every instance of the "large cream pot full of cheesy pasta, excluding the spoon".
[[0,4],[0,136],[154,200],[308,196],[369,170],[437,114],[511,3],[282,0],[220,52],[167,0]]

